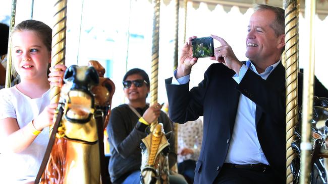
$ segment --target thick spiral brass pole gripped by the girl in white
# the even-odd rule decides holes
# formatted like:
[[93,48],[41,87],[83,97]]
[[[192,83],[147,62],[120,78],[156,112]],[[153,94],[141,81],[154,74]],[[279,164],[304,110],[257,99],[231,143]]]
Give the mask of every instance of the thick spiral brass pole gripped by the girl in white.
[[[57,64],[65,64],[66,53],[66,14],[67,0],[56,0],[53,6],[53,27],[52,27],[52,43],[51,43],[51,67]],[[61,88],[59,86],[51,86],[50,104],[58,103]],[[57,115],[55,114],[54,117]],[[53,121],[56,121],[54,118]],[[50,127],[50,131],[52,130]]]

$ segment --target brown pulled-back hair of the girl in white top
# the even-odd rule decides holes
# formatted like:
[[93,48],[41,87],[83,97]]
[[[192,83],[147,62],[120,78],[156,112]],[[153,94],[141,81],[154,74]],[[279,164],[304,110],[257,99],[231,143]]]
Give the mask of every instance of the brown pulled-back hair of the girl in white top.
[[47,50],[51,51],[52,30],[48,25],[36,20],[26,20],[15,27],[14,33],[25,30],[37,32]]

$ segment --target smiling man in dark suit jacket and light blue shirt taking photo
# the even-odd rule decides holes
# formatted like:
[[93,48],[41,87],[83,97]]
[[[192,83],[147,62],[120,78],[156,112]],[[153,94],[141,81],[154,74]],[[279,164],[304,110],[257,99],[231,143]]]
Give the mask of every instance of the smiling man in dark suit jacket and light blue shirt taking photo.
[[[285,68],[280,61],[284,16],[281,8],[255,7],[247,29],[246,62],[236,58],[224,39],[212,35],[222,44],[210,58],[218,63],[190,91],[195,37],[182,48],[175,77],[166,80],[166,87],[174,122],[204,116],[194,183],[286,183]],[[316,95],[327,96],[328,91]]]

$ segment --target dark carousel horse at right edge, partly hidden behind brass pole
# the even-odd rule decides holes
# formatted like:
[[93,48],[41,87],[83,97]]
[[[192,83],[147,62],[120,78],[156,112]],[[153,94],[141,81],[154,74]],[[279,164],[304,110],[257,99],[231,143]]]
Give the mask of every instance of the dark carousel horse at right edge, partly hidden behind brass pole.
[[[300,116],[301,117],[301,116]],[[301,118],[295,127],[296,139],[292,143],[293,150],[297,153],[292,161],[291,170],[294,184],[299,183],[300,176],[300,143],[301,143]],[[313,97],[313,117],[311,120],[311,184],[327,184],[326,158],[328,158],[328,99]]]

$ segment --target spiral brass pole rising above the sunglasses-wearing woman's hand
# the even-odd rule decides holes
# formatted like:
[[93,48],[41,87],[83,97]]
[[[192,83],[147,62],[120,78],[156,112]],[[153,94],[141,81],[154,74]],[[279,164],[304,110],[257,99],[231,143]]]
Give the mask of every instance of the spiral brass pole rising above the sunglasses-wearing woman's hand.
[[151,50],[150,106],[157,103],[160,0],[153,0],[152,4],[154,6],[154,17]]

